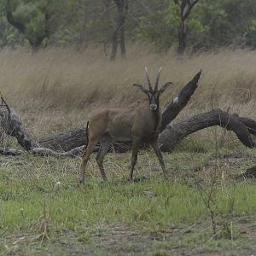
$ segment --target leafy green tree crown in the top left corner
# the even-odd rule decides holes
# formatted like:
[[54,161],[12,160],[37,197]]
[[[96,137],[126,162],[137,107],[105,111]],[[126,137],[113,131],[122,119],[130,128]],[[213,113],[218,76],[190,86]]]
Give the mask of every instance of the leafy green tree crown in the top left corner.
[[24,35],[32,49],[38,49],[55,32],[61,9],[65,9],[63,6],[67,2],[3,0],[2,11],[9,24]]

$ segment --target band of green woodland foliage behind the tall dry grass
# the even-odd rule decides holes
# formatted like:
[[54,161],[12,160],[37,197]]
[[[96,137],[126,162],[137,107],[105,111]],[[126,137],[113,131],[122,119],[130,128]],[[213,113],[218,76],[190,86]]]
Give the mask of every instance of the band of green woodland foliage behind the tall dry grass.
[[[126,41],[146,41],[161,49],[178,44],[181,9],[176,3],[183,1],[127,2]],[[113,0],[2,0],[0,46],[108,46],[118,15]],[[199,0],[185,21],[186,45],[192,50],[224,46],[255,49],[255,17],[255,0]]]

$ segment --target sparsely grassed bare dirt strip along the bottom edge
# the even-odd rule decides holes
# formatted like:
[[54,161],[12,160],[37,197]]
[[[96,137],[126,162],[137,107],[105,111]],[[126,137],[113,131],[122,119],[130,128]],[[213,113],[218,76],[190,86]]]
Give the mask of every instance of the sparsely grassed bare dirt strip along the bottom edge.
[[[4,255],[255,255],[256,219],[234,218],[234,237],[211,234],[210,224],[172,227],[154,232],[125,224],[59,230],[40,245],[32,236],[5,237]],[[157,227],[157,225],[156,225]],[[2,242],[1,242],[2,243]]]

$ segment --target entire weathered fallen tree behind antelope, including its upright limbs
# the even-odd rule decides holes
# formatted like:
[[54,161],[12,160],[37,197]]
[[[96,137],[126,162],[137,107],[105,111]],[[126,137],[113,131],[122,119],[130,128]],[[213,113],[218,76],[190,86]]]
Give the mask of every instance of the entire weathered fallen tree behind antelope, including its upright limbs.
[[[201,129],[219,125],[224,129],[234,131],[238,139],[248,148],[255,148],[256,142],[253,135],[256,134],[256,122],[253,119],[240,118],[237,113],[225,113],[220,109],[213,109],[207,113],[197,114],[189,119],[179,121],[177,124],[168,125],[177,114],[189,102],[189,98],[197,88],[201,72],[184,86],[178,96],[169,104],[163,113],[160,133],[160,148],[162,151],[172,152],[183,137]],[[2,97],[3,100],[3,97]],[[44,137],[38,143],[32,141],[28,132],[21,124],[15,111],[6,104],[5,109],[0,111],[0,125],[5,133],[17,138],[18,143],[35,155],[52,155],[55,157],[67,157],[81,154],[87,144],[86,128],[74,129],[73,131],[61,132],[50,137]],[[3,105],[2,105],[3,107]],[[166,125],[167,128],[166,128]],[[131,143],[113,143],[113,151],[123,153],[131,148]],[[64,150],[66,152],[57,152]],[[98,147],[95,148],[95,151]],[[0,148],[0,154],[19,155],[20,151]]]

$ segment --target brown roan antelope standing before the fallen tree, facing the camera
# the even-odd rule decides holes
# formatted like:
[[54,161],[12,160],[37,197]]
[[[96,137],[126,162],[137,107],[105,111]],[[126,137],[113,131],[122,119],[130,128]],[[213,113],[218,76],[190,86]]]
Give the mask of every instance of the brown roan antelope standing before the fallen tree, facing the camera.
[[152,148],[154,148],[154,153],[160,161],[164,177],[167,177],[166,166],[158,144],[161,123],[160,95],[172,83],[167,82],[160,88],[160,90],[158,90],[161,69],[162,68],[160,68],[157,74],[154,89],[151,86],[147,67],[145,67],[145,70],[149,90],[141,84],[133,84],[148,96],[147,102],[141,102],[136,108],[97,109],[90,115],[88,125],[90,131],[89,143],[86,151],[82,155],[80,183],[84,183],[86,164],[98,142],[101,143],[101,147],[96,155],[96,162],[102,173],[102,178],[107,180],[103,167],[103,159],[108,153],[108,148],[113,140],[119,143],[132,142],[131,172],[129,180],[132,180],[133,169],[137,162],[137,151],[140,143],[151,144]]

